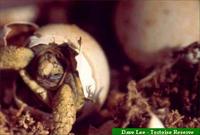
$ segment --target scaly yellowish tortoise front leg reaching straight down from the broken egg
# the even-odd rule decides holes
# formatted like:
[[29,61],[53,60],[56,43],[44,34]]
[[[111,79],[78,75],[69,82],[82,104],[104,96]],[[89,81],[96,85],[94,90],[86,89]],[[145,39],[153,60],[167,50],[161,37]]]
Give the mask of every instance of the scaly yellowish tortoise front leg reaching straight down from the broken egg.
[[75,96],[71,87],[64,84],[53,100],[53,122],[52,135],[68,135],[76,120]]

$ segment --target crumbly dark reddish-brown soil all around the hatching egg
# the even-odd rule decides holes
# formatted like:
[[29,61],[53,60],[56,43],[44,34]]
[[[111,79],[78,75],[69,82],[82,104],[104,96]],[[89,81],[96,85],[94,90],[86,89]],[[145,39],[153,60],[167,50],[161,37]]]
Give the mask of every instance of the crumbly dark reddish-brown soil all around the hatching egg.
[[[137,83],[131,80],[129,66],[123,71],[112,69],[105,105],[77,122],[72,132],[105,135],[111,134],[113,127],[147,127],[151,118],[149,112],[156,114],[165,127],[200,128],[199,55],[198,43],[175,51]],[[127,87],[120,87],[125,84]],[[1,104],[0,134],[49,134],[51,119],[33,112],[20,110],[14,104],[7,107]]]

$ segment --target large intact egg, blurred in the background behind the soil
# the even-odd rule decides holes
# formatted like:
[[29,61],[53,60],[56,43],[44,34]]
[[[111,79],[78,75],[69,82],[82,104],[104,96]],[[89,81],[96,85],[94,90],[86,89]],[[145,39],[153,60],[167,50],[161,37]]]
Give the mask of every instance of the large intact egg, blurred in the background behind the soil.
[[115,14],[116,32],[127,55],[151,65],[159,52],[200,41],[199,0],[124,0]]

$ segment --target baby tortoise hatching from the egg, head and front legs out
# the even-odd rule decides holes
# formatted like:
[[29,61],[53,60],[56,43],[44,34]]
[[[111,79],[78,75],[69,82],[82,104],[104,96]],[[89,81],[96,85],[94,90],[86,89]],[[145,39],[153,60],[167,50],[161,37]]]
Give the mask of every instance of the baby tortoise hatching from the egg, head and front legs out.
[[[18,72],[37,99],[52,109],[54,129],[51,134],[69,134],[76,113],[85,101],[75,60],[81,39],[77,41],[77,47],[70,40],[57,42],[47,35],[45,42],[35,44],[37,29],[30,23],[12,23],[4,27],[0,42],[0,69]],[[16,94],[13,98],[20,108],[29,106]]]

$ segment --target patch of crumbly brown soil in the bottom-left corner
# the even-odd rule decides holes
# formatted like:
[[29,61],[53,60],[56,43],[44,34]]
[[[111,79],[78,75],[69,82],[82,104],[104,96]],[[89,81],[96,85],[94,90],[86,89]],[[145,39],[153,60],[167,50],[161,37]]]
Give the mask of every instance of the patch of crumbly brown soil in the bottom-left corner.
[[41,120],[36,120],[28,111],[20,115],[19,110],[10,107],[1,109],[0,112],[0,134],[3,135],[48,135],[48,128]]

